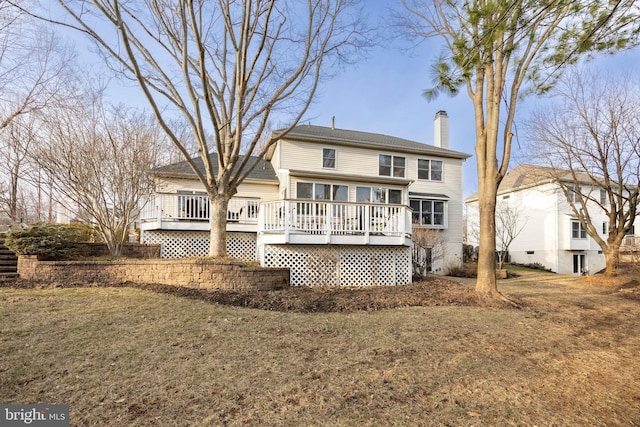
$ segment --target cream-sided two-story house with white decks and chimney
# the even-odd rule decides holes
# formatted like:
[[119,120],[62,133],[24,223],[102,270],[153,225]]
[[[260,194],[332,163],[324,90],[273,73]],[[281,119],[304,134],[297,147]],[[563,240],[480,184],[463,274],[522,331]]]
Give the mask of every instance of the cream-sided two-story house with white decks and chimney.
[[[299,125],[238,187],[227,214],[230,256],[289,267],[294,285],[411,282],[412,226],[445,236],[433,271],[462,262],[462,162],[448,149],[448,118],[435,145]],[[215,163],[215,162],[214,162]],[[205,256],[209,203],[185,162],[153,171],[156,193],[140,218],[141,242],[163,257]]]

